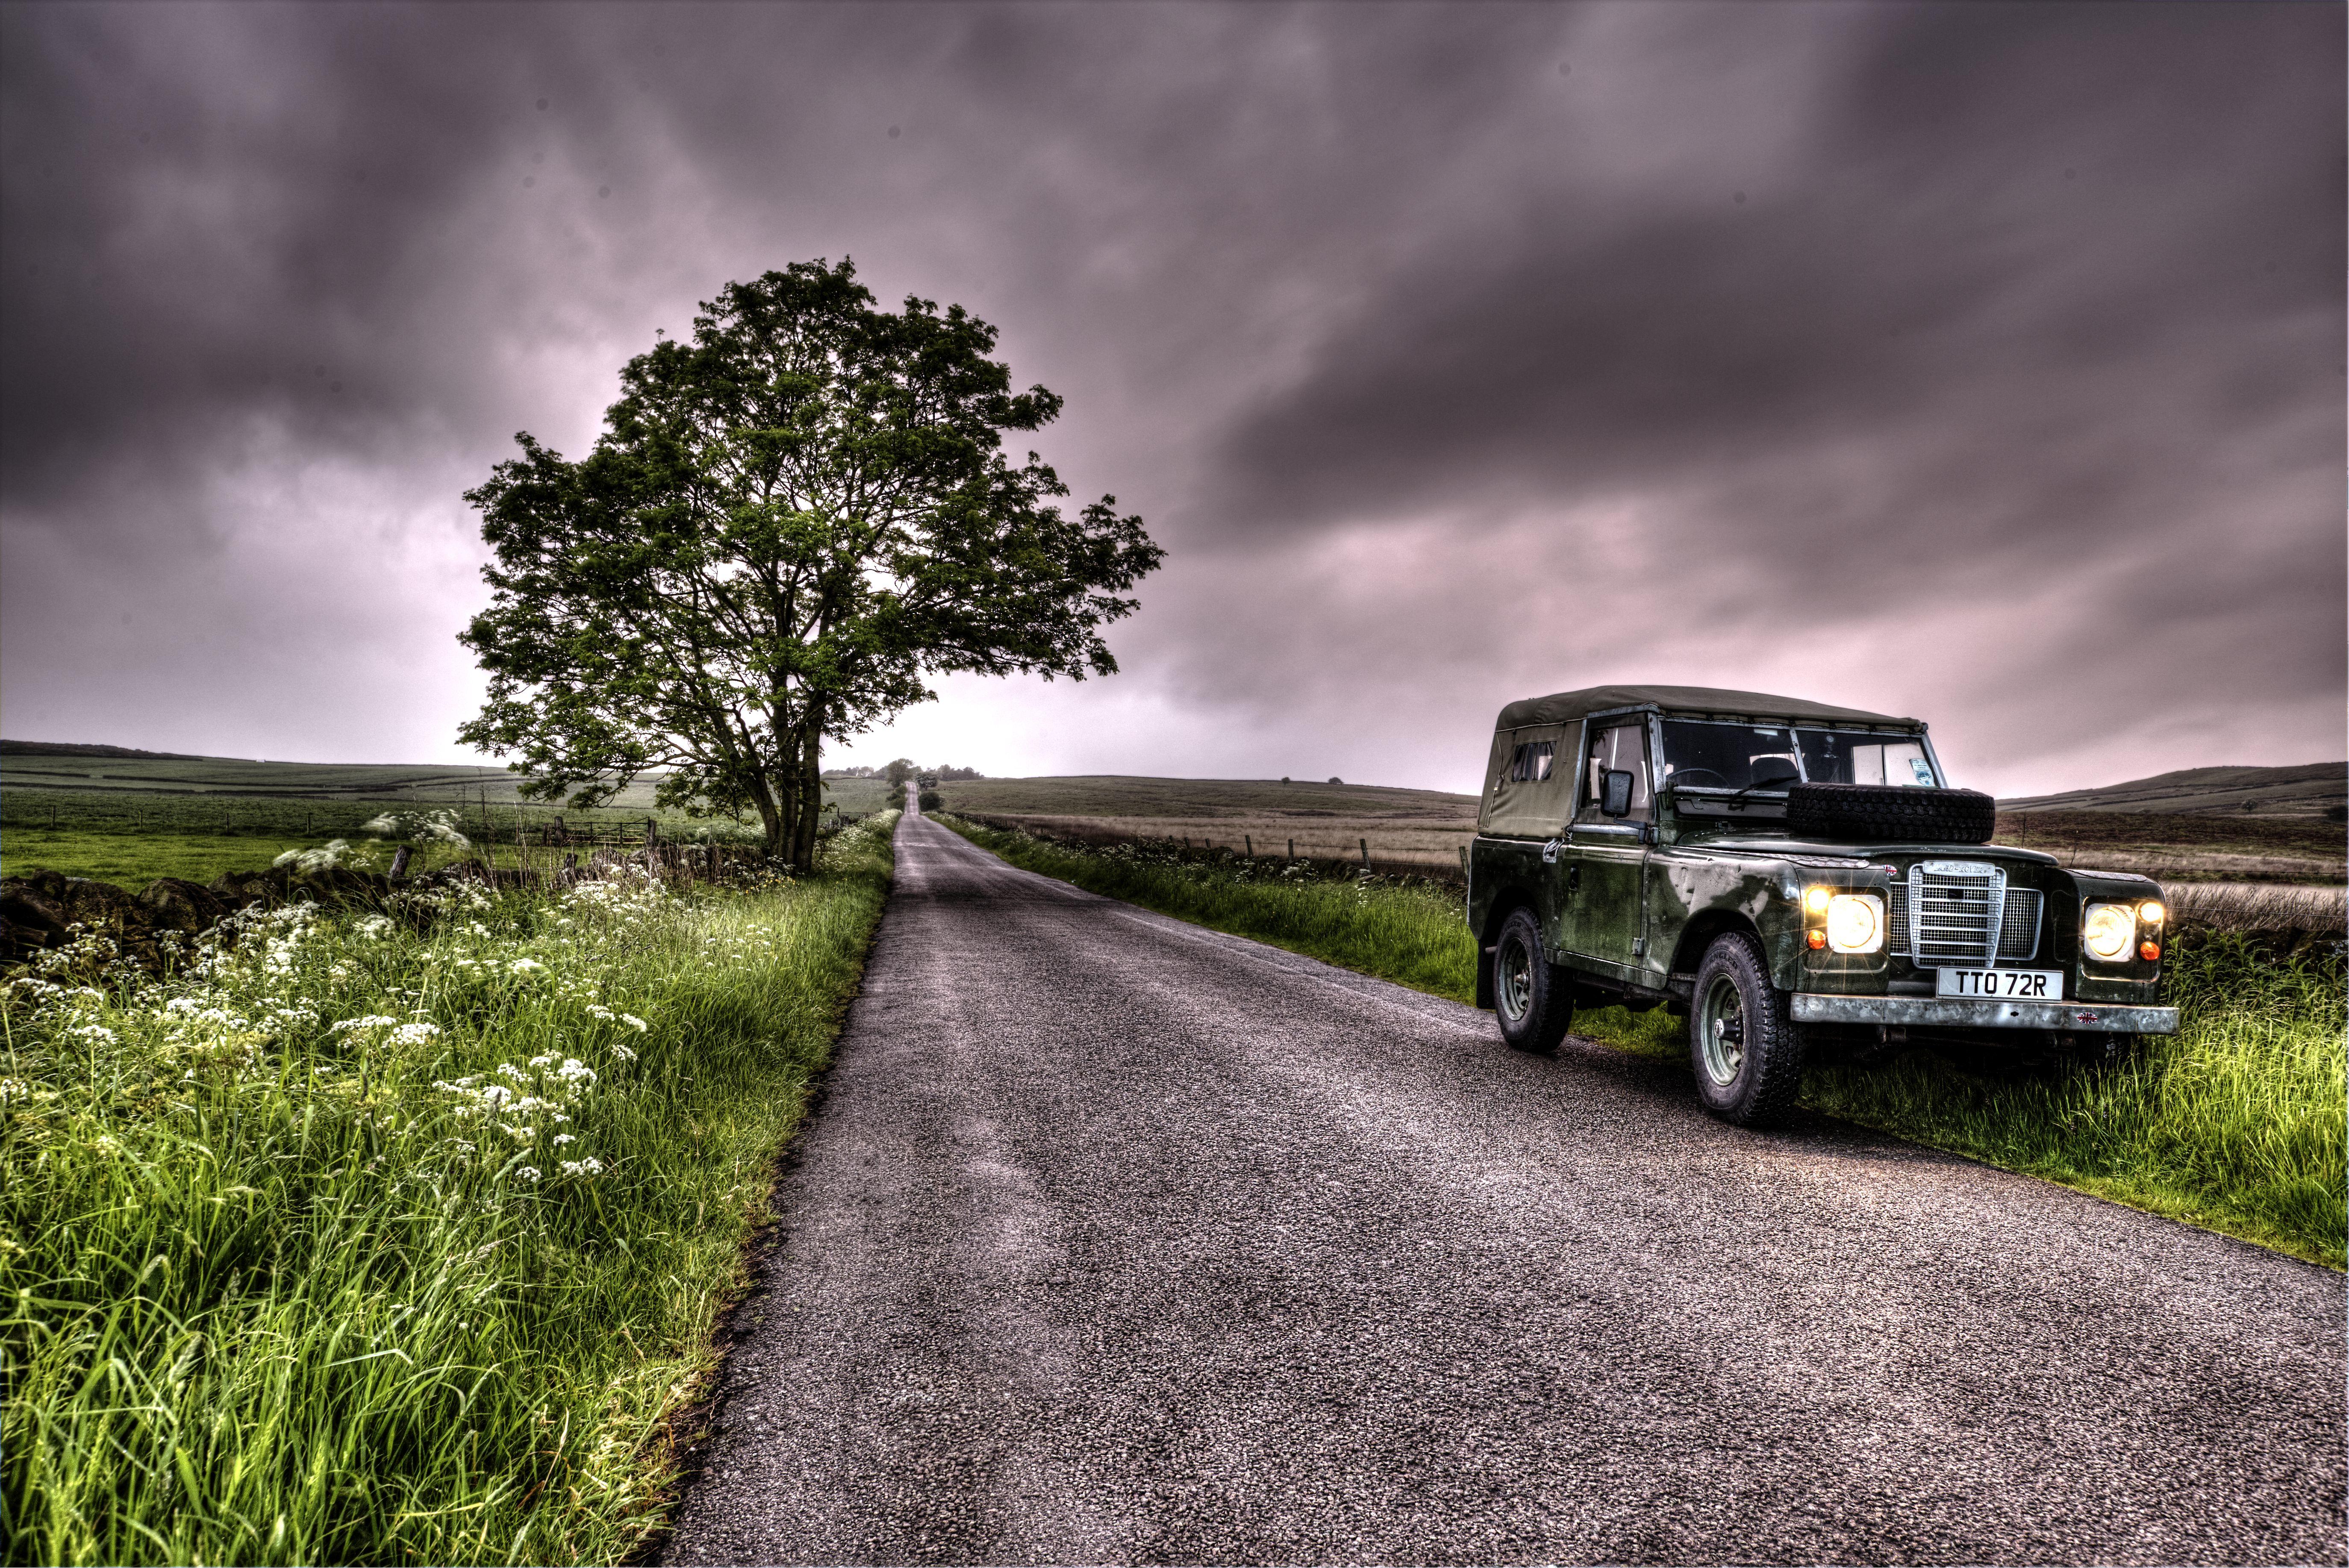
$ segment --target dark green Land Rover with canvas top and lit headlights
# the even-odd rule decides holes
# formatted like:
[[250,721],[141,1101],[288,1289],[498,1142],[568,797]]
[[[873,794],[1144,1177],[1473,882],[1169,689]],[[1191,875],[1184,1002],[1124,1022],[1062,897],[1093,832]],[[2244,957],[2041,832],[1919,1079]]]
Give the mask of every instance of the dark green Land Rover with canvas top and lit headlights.
[[1992,826],[1914,718],[1689,685],[1510,702],[1468,854],[1478,1005],[1534,1052],[1576,1005],[1682,1014],[1738,1124],[1792,1106],[1806,1052],[2175,1033],[2161,887]]

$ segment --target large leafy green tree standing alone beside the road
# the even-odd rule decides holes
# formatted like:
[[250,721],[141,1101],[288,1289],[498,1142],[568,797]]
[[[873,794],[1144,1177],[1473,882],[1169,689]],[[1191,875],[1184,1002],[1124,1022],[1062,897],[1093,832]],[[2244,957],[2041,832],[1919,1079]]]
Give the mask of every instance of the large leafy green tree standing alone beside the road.
[[463,634],[489,702],[460,739],[540,800],[658,770],[662,805],[756,810],[806,869],[827,735],[942,671],[1116,671],[1102,627],[1163,552],[1113,495],[1066,516],[1036,453],[1005,458],[1062,399],[1012,392],[994,345],[961,305],[893,315],[848,261],[796,263],[630,359],[583,460],[519,434],[465,495],[496,592]]

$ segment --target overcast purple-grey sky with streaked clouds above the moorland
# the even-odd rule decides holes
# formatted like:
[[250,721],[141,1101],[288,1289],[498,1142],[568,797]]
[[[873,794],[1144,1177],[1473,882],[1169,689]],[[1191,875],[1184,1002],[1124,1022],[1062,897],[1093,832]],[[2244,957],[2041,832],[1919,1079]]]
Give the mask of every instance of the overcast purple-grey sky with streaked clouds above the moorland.
[[839,761],[1473,789],[1604,681],[1999,793],[2344,753],[2337,5],[0,7],[0,723],[444,761],[460,493],[723,282],[1167,547]]

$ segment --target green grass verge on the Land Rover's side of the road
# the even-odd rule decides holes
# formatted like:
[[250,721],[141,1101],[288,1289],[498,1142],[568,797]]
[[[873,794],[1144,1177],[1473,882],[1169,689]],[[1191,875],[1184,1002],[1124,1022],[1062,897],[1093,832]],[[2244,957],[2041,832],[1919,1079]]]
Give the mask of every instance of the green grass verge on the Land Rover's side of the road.
[[[1078,850],[942,819],[1015,866],[1459,1002],[1475,944],[1459,897],[1384,880],[1283,878],[1278,861],[1184,859],[1149,845]],[[2180,925],[2168,1000],[2182,1028],[2114,1068],[1966,1070],[1931,1052],[1882,1068],[1818,1063],[1804,1103],[2133,1209],[2344,1265],[2349,1007],[2340,941],[2276,944]],[[1579,1012],[1574,1030],[1687,1059],[1663,1009]]]

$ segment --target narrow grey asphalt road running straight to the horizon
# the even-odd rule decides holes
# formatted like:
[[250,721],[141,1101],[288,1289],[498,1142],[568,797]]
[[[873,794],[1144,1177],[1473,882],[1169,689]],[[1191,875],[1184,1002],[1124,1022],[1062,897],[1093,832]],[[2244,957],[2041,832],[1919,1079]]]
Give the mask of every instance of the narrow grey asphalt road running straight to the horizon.
[[2328,1270],[907,819],[669,1561],[2344,1559]]

